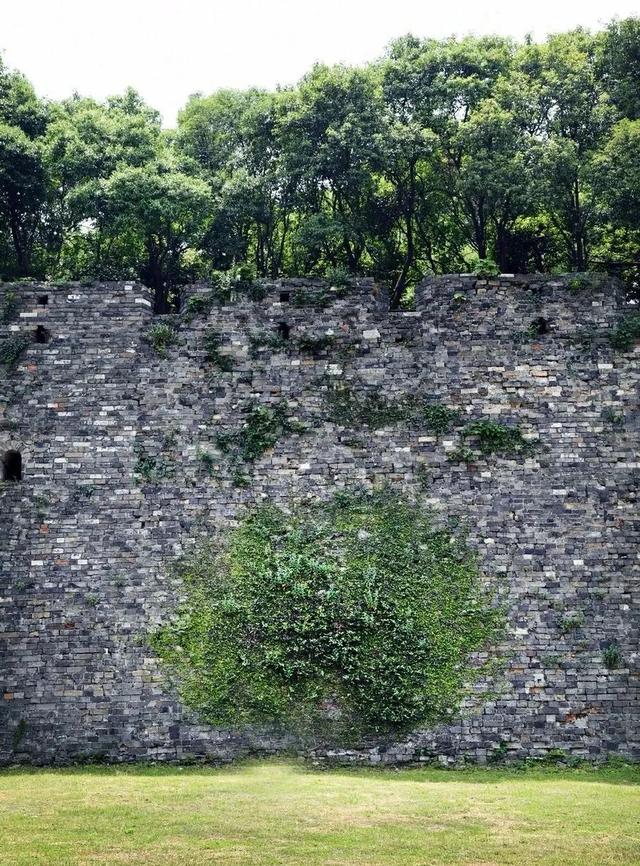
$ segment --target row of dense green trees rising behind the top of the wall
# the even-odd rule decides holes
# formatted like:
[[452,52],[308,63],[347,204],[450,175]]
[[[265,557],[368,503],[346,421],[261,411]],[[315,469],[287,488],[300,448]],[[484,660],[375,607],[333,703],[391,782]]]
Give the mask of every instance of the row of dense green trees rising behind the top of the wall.
[[640,260],[640,19],[544,43],[406,36],[364,68],[192,96],[38,98],[0,66],[0,276],[370,274]]

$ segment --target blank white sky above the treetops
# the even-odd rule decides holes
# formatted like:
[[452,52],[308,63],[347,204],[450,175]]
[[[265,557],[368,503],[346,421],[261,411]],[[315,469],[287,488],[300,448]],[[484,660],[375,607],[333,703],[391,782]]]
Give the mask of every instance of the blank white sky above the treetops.
[[0,0],[0,52],[41,96],[131,85],[173,126],[191,93],[293,84],[409,32],[542,39],[634,14],[640,0]]

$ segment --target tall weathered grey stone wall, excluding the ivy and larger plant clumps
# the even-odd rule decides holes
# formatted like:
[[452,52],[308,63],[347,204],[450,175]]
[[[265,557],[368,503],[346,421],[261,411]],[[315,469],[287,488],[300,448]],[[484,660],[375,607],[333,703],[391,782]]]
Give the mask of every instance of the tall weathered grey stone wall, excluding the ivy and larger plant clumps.
[[[510,660],[451,724],[341,756],[638,758],[638,352],[609,342],[624,312],[615,282],[439,277],[414,311],[389,313],[371,281],[341,292],[290,280],[162,318],[136,284],[5,285],[0,311],[14,289],[0,336],[42,326],[46,342],[0,372],[0,456],[23,460],[22,480],[0,486],[3,761],[227,760],[295,745],[198,724],[144,635],[175,610],[167,565],[194,538],[265,499],[381,482],[468,525],[483,570],[508,587]],[[184,307],[194,296],[206,287]],[[177,335],[166,358],[148,341],[159,323]],[[206,358],[212,329],[229,371]],[[535,451],[456,462],[456,433],[341,426],[327,398],[345,385],[518,425]],[[239,476],[217,436],[265,404],[306,431]]]

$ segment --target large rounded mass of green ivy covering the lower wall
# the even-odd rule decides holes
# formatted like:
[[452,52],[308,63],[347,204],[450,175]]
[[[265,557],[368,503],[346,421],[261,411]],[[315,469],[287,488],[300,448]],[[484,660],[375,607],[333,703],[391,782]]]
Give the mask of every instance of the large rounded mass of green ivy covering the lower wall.
[[152,645],[215,725],[434,724],[503,625],[464,541],[389,492],[258,510],[177,573],[187,601]]

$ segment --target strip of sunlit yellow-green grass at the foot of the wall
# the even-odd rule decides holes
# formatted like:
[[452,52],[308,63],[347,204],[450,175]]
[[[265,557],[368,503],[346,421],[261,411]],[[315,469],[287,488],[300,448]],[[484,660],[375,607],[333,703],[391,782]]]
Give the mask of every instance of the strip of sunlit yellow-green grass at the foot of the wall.
[[640,864],[640,767],[0,773],[0,863]]

